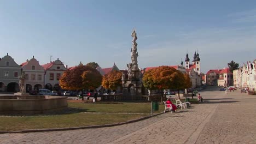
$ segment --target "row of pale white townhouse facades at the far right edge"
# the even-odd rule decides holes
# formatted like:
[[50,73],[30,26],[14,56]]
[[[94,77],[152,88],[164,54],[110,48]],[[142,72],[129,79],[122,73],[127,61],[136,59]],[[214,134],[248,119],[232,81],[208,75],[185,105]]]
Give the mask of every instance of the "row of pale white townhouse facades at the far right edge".
[[242,67],[234,70],[233,74],[235,87],[256,91],[256,59],[253,62],[244,63]]

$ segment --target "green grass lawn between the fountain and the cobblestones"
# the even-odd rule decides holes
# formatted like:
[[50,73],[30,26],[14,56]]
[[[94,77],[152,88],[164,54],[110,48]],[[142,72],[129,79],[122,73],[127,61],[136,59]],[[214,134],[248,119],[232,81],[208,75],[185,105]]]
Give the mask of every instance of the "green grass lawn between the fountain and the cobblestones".
[[[69,128],[88,125],[113,124],[151,115],[151,103],[91,104],[68,103],[80,112],[59,115],[0,116],[0,130]],[[164,111],[164,105],[159,110]]]

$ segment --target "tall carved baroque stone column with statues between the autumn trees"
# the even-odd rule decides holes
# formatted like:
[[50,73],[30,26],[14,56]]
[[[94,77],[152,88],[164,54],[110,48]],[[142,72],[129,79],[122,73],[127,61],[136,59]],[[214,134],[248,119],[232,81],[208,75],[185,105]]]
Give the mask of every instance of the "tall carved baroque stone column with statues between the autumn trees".
[[142,73],[138,68],[137,34],[133,30],[132,34],[131,61],[127,64],[127,74],[123,73],[123,98],[125,100],[139,100],[142,95]]

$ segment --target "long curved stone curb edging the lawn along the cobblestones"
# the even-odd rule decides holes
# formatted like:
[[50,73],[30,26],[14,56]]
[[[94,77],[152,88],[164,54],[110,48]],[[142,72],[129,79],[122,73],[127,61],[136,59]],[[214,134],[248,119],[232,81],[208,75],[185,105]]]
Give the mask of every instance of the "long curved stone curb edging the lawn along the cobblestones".
[[138,119],[133,119],[131,121],[127,122],[120,122],[120,123],[114,123],[114,124],[105,124],[105,125],[90,125],[90,126],[85,126],[85,127],[72,127],[72,128],[53,128],[53,129],[24,129],[24,130],[18,130],[18,131],[0,131],[0,134],[12,134],[12,133],[34,133],[34,132],[44,132],[44,131],[62,131],[62,130],[76,130],[76,129],[93,129],[93,128],[104,128],[104,127],[114,127],[117,125],[123,125],[123,124],[129,124],[129,123],[134,123],[138,121],[142,121],[144,119],[148,119],[150,117],[158,116],[161,115],[161,113],[156,113],[153,116],[146,116]]

